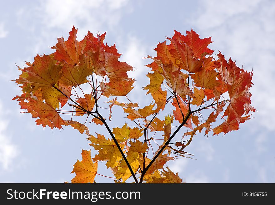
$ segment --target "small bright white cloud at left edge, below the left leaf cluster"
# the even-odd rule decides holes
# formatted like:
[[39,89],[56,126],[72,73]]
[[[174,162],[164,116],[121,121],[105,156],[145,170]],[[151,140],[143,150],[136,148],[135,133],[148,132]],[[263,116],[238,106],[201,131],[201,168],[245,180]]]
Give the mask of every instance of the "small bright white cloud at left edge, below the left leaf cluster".
[[3,169],[10,168],[12,159],[17,156],[17,148],[12,144],[6,134],[7,129],[7,118],[2,116],[4,108],[0,102],[0,165]]

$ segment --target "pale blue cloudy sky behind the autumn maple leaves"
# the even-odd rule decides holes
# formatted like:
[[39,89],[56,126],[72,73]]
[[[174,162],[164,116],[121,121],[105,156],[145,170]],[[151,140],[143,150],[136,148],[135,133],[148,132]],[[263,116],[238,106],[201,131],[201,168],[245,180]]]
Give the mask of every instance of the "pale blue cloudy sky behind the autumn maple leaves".
[[[0,8],[0,183],[63,183],[74,174],[73,164],[81,160],[81,149],[91,149],[85,135],[65,127],[62,130],[37,126],[30,114],[22,114],[11,99],[20,95],[15,80],[17,66],[33,61],[37,54],[49,54],[57,37],[68,38],[73,25],[78,39],[88,30],[107,31],[105,42],[116,43],[120,60],[135,71],[135,87],[129,98],[148,105],[143,86],[153,50],[158,42],[191,28],[201,38],[212,37],[210,48],[221,51],[237,66],[253,69],[253,119],[240,129],[218,136],[193,138],[186,151],[194,159],[180,158],[167,165],[187,183],[275,183],[275,2],[267,0],[212,1],[3,1]],[[125,119],[119,109],[111,121],[121,127]],[[128,121],[129,122],[129,121]],[[98,127],[89,124],[90,132]],[[105,130],[100,130],[102,134]],[[99,173],[111,176],[104,163]],[[97,182],[113,182],[97,176]]]

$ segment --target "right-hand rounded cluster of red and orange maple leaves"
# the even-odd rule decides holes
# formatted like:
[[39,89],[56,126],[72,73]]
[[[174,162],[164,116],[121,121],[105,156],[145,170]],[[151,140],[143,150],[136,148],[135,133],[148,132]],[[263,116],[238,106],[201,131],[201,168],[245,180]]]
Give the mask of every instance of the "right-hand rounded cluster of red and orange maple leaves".
[[[147,75],[150,78],[150,84],[145,87],[148,93],[151,93],[154,99],[160,92],[166,93],[166,90],[163,91],[160,87],[163,81],[166,81],[167,89],[175,96],[172,103],[176,107],[173,112],[175,119],[182,122],[183,116],[189,111],[192,112],[185,124],[191,131],[185,135],[193,136],[203,128],[206,128],[205,134],[210,130],[213,134],[225,134],[239,129],[239,124],[250,118],[248,112],[255,112],[251,106],[249,92],[252,72],[237,67],[231,59],[227,62],[220,52],[218,59],[214,60],[213,51],[207,47],[212,42],[211,38],[200,39],[193,30],[187,32],[186,36],[175,31],[174,36],[167,39],[170,44],[164,41],[155,48],[156,57],[148,56],[154,60],[147,65],[153,71]],[[229,99],[223,96],[227,91],[225,96],[229,95]],[[221,98],[223,100],[219,102]],[[163,96],[164,99],[166,95]],[[229,105],[222,115],[227,102]],[[195,105],[195,108],[190,104]],[[159,109],[164,108],[164,104],[162,105]],[[214,108],[215,111],[206,120],[202,120],[204,122],[200,122],[199,117],[205,119],[200,116],[204,108]],[[224,122],[212,128],[211,123],[216,122],[219,115]]]

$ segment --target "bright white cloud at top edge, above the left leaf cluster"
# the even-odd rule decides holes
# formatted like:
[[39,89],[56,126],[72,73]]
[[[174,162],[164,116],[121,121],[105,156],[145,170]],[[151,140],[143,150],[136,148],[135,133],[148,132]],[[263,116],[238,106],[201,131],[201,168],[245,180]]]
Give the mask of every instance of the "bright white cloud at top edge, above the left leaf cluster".
[[[49,28],[63,28],[67,30],[72,25],[83,26],[86,31],[105,31],[114,29],[121,18],[122,8],[128,0],[83,0],[83,1],[55,1],[48,0],[41,2],[43,24]],[[106,26],[106,27],[103,27]]]

